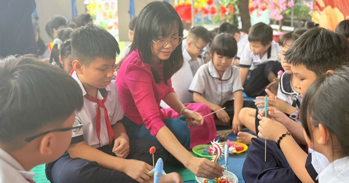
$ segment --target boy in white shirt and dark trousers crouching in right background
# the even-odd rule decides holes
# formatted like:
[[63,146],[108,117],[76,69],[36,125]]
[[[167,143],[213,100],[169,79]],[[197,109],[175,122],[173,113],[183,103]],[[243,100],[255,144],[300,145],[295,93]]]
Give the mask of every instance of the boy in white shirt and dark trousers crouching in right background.
[[273,41],[273,29],[262,22],[250,28],[248,41],[239,63],[241,83],[248,97],[265,96],[266,86],[282,70],[277,59],[281,46]]

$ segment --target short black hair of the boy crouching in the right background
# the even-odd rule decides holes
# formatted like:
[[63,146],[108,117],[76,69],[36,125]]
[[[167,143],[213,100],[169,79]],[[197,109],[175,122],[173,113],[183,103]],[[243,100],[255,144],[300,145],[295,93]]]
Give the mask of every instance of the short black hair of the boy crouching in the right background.
[[254,24],[248,31],[248,41],[260,42],[263,46],[266,46],[273,41],[272,27],[263,22]]

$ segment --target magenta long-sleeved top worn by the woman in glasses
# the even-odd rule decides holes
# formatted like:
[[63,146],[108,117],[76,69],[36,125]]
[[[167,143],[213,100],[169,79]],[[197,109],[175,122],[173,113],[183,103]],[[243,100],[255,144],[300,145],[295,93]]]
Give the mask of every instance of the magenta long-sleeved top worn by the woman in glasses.
[[[156,65],[158,73],[163,76],[163,62]],[[160,110],[160,101],[169,93],[174,92],[171,79],[168,85],[161,79],[156,83],[150,66],[141,60],[138,50],[133,51],[122,62],[116,76],[116,87],[126,116],[133,122],[146,124],[150,134],[156,136],[165,125]]]

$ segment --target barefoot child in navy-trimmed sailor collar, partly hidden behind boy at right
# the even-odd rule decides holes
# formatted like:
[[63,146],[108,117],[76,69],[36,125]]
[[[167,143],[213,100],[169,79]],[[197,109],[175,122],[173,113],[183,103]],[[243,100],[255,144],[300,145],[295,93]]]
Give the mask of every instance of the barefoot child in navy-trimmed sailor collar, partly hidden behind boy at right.
[[[266,89],[267,94],[269,94],[268,106],[274,107],[281,112],[290,115],[290,118],[296,120],[298,123],[300,123],[300,120],[298,119],[298,111],[302,102],[302,98],[300,97],[300,94],[296,92],[294,85],[295,76],[292,74],[290,65],[285,60],[285,53],[288,48],[290,48],[291,44],[305,31],[305,29],[301,29],[298,31],[285,33],[281,36],[281,38],[279,39],[279,44],[280,46],[282,46],[281,65],[285,72],[280,78],[277,96]],[[264,107],[264,98],[265,97],[257,97],[257,99],[263,101],[256,102],[255,105],[257,107]],[[256,135],[258,134],[257,127],[259,125],[259,119],[257,118],[257,115],[257,109],[248,107],[242,108],[239,113],[240,122]],[[238,136],[238,142],[242,142],[244,144],[251,144],[251,138],[257,138],[255,135],[247,132],[239,132]]]

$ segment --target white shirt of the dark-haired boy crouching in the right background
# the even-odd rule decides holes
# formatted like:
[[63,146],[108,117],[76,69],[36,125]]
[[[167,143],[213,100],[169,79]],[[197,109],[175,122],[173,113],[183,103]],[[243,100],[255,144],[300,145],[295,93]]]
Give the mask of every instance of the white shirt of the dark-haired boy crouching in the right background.
[[[240,57],[240,67],[250,68],[250,70],[255,69],[257,66],[267,63],[269,61],[279,61],[277,59],[277,55],[281,53],[282,47],[272,41],[272,45],[270,46],[270,51],[267,51],[262,58],[260,55],[255,55],[250,49],[250,42],[246,43],[244,50]],[[270,57],[268,58],[270,52]]]

